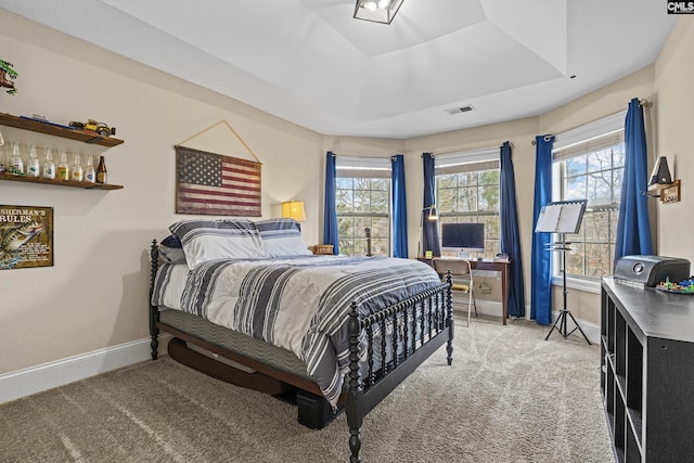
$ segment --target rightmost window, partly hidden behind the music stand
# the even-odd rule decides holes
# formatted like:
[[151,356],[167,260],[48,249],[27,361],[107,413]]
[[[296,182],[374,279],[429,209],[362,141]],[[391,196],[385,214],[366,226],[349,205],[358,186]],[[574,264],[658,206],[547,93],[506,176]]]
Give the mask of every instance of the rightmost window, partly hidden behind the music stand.
[[[621,179],[625,166],[625,114],[558,134],[552,152],[554,197],[588,200],[581,228],[564,239],[568,278],[599,281],[612,273],[615,256]],[[561,275],[562,259],[554,259]]]

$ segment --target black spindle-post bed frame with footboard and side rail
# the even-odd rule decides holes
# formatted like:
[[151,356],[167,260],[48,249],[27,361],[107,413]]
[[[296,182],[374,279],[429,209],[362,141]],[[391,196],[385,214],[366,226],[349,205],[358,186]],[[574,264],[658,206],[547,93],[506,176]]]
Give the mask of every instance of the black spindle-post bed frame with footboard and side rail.
[[[157,306],[152,306],[152,292],[159,267],[156,241],[151,246],[151,285],[150,285],[150,347],[152,360],[158,356],[159,332],[195,344],[215,353],[223,356],[243,365],[259,371],[272,378],[296,386],[311,394],[320,395],[318,385],[305,377],[279,371],[257,360],[232,352],[220,346],[196,338],[176,326],[159,321]],[[345,406],[349,426],[350,463],[361,462],[361,426],[364,416],[376,407],[390,391],[408,377],[432,353],[446,344],[447,362],[452,363],[453,353],[453,311],[451,296],[451,275],[446,282],[423,291],[414,296],[385,307],[370,314],[362,314],[356,303],[351,304],[347,321],[349,333],[349,370],[346,389],[340,397]],[[374,331],[386,332],[391,327],[393,336],[378,336],[374,340]],[[362,333],[365,333],[362,335]],[[367,338],[367,360],[360,360],[360,336]],[[390,343],[388,345],[388,343]],[[374,352],[381,353],[381,365],[374,366]],[[362,364],[363,363],[363,364]],[[361,377],[361,372],[367,372]]]

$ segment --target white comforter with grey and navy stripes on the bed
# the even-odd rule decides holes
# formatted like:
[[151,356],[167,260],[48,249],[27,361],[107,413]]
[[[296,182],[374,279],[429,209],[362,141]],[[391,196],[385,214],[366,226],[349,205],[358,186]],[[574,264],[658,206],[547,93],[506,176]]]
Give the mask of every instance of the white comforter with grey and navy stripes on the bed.
[[440,284],[426,263],[381,257],[164,265],[152,304],[197,314],[293,351],[335,406],[348,365],[351,301],[369,313]]

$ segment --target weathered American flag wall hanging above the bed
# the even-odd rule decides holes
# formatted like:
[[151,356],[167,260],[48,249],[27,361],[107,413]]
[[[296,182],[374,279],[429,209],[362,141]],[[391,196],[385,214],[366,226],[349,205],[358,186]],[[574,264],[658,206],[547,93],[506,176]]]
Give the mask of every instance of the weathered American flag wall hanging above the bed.
[[176,146],[176,214],[260,217],[261,166]]

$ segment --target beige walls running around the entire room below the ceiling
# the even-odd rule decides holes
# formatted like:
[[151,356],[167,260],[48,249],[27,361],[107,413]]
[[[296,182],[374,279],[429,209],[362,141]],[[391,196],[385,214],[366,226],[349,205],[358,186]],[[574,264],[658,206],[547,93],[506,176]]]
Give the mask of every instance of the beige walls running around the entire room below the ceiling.
[[[692,171],[691,126],[694,105],[686,91],[693,81],[694,25],[680,21],[655,66],[606,86],[540,117],[420,137],[374,140],[329,137],[272,117],[237,101],[201,89],[88,43],[0,10],[2,56],[20,73],[15,97],[0,94],[0,111],[43,114],[51,120],[97,118],[118,129],[125,140],[104,153],[113,192],[0,184],[0,204],[55,209],[55,266],[0,271],[0,374],[82,355],[147,336],[147,246],[166,236],[181,218],[174,213],[174,145],[227,120],[262,162],[262,215],[277,217],[282,201],[306,202],[306,244],[322,236],[324,153],[347,156],[406,154],[410,255],[416,254],[422,202],[421,153],[445,153],[500,145],[510,141],[529,304],[532,179],[538,133],[558,132],[626,108],[632,97],[648,99],[648,125],[659,153],[674,156],[683,201],[658,206],[663,254],[693,259],[683,213],[686,175]],[[194,65],[194,64],[191,64]],[[44,146],[76,144],[5,127],[8,141]],[[207,143],[224,150],[224,134]],[[77,144],[78,145],[78,144]],[[85,150],[86,146],[79,146]],[[691,176],[691,175],[690,175]],[[570,308],[599,323],[597,296],[569,292]]]

